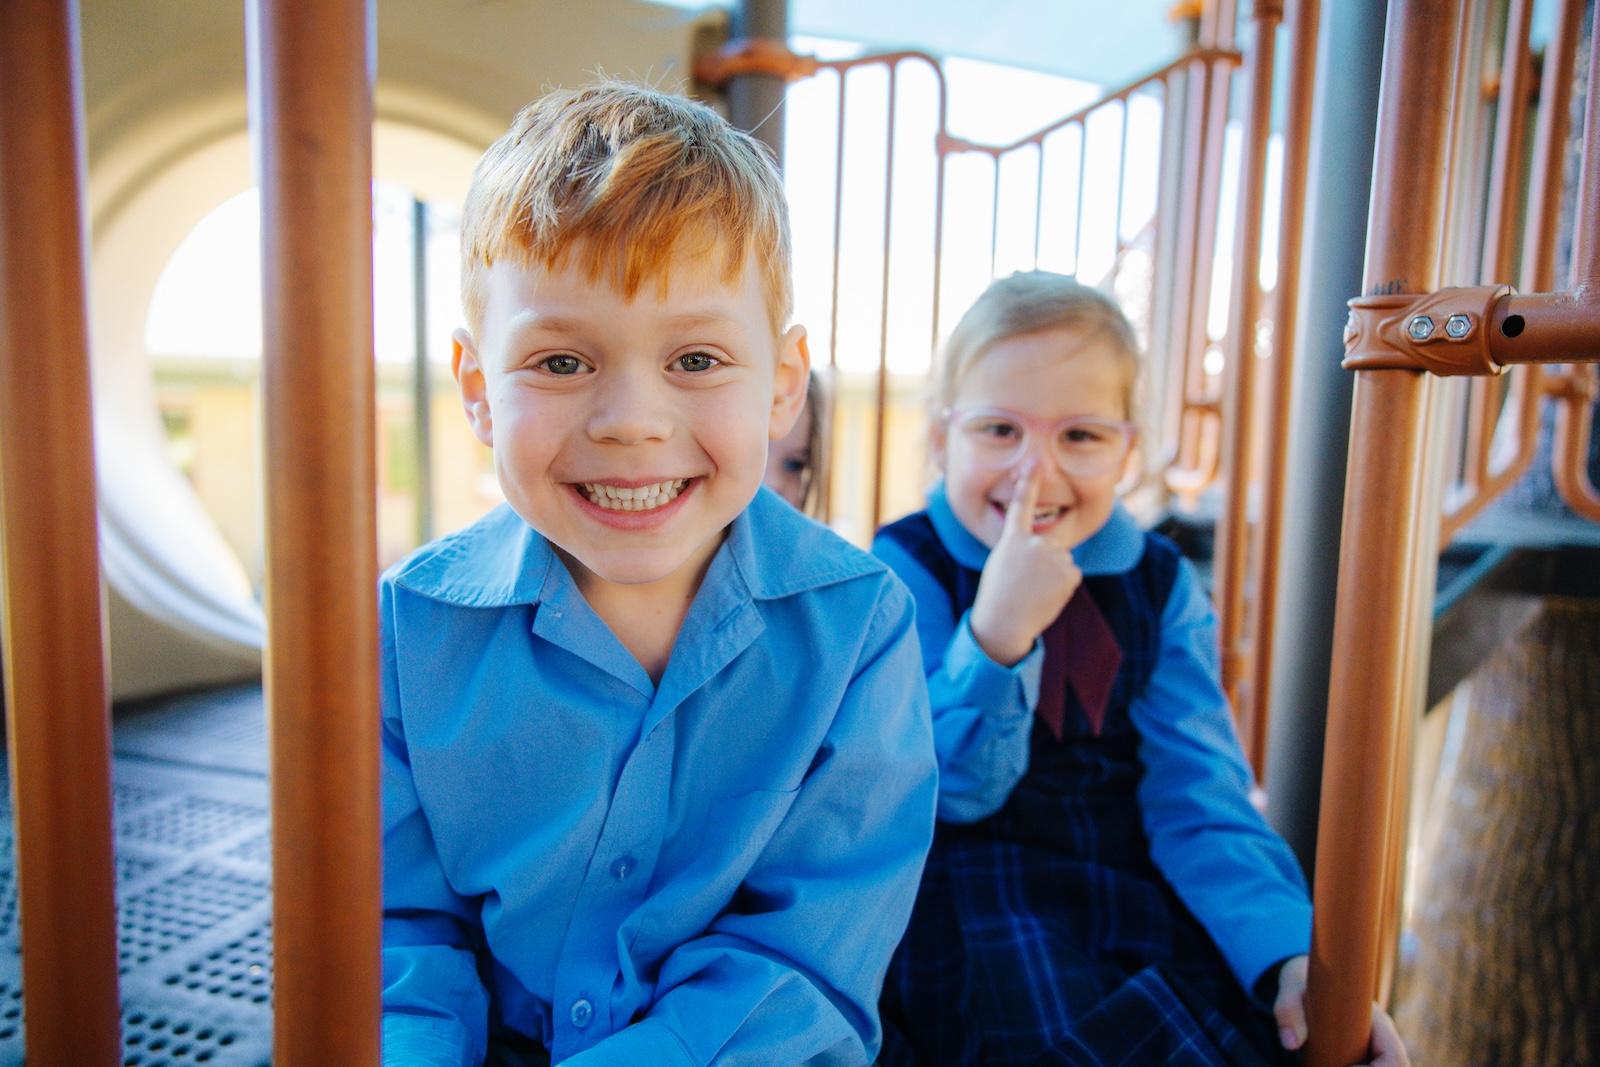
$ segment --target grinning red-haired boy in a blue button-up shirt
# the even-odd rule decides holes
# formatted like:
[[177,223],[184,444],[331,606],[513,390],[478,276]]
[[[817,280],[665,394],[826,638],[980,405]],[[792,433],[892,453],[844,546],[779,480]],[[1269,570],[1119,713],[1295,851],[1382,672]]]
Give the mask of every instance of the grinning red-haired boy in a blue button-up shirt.
[[506,506],[382,581],[384,1061],[869,1062],[934,755],[907,593],[760,490],[808,365],[773,165],[546,96],[462,253]]

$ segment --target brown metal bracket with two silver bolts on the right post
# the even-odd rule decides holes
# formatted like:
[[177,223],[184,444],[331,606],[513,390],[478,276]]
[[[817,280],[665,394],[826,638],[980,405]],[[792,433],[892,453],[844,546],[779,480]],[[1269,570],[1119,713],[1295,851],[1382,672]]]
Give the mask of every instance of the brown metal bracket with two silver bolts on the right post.
[[1358,296],[1344,326],[1344,370],[1504,374],[1490,352],[1490,315],[1509,285]]

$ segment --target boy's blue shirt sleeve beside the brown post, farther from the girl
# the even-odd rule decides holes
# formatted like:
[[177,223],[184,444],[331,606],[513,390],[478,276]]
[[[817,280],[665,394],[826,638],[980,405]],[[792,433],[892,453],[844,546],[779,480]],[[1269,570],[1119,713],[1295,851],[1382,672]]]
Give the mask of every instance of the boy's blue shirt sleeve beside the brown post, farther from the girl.
[[395,661],[395,595],[379,592],[384,827],[384,1064],[477,1067],[488,1045],[488,993],[478,979],[477,904],[450,888],[422,813]]

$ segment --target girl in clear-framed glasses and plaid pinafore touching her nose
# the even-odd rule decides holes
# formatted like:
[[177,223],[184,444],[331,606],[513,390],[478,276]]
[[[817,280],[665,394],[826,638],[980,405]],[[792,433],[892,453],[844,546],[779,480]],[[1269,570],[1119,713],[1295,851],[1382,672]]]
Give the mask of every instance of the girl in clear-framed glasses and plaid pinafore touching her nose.
[[[939,825],[885,1064],[1270,1064],[1306,1037],[1310,902],[1250,803],[1216,619],[1117,502],[1138,349],[1101,293],[995,282],[936,384],[917,600]],[[1405,1064],[1374,1009],[1381,1064]]]

